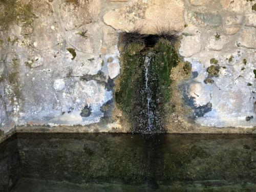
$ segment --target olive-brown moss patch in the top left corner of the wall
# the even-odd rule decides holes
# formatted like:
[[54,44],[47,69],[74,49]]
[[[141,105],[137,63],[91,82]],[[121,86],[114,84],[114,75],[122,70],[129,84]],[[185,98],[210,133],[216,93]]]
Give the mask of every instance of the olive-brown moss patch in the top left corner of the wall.
[[0,26],[7,29],[13,23],[31,26],[35,18],[30,4],[23,5],[16,0],[2,0],[3,11],[0,11]]

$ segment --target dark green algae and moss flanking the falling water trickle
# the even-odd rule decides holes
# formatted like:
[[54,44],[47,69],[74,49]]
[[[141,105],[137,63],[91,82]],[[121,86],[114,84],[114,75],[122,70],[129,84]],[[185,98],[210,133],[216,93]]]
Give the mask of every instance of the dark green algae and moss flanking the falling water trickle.
[[[171,96],[170,73],[179,61],[175,48],[164,39],[159,39],[152,47],[133,42],[125,49],[121,48],[121,60],[120,87],[115,97],[129,119],[132,131],[148,131],[148,106],[154,116],[154,130],[151,131],[164,132],[164,117],[168,111],[166,103]],[[184,70],[188,71],[188,68],[184,65]],[[148,102],[148,94],[151,102]]]

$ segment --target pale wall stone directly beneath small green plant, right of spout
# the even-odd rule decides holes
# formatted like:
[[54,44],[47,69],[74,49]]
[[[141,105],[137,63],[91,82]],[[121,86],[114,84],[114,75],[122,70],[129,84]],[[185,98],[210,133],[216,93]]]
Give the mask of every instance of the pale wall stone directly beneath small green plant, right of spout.
[[228,43],[228,37],[221,35],[219,39],[216,39],[214,35],[211,35],[208,39],[207,48],[209,50],[220,51]]

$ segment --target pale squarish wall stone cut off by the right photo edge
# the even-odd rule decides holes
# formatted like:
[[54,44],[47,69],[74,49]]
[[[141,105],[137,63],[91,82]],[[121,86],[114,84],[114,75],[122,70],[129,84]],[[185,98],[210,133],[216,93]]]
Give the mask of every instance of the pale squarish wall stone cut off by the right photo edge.
[[256,49],[256,28],[245,27],[240,32],[240,37],[238,39],[238,46],[243,46],[246,48]]

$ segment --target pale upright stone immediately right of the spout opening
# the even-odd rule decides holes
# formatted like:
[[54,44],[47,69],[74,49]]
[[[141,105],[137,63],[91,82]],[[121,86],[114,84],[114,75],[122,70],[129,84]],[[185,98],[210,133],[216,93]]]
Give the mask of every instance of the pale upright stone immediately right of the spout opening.
[[200,36],[201,33],[197,28],[185,28],[179,52],[184,57],[190,57],[201,51]]

